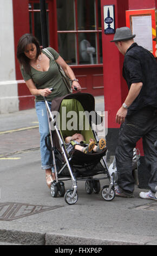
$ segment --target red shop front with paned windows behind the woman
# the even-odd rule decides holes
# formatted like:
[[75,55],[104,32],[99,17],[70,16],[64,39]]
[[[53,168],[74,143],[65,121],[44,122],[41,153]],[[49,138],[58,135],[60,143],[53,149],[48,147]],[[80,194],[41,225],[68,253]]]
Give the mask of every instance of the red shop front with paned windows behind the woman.
[[[40,0],[13,0],[15,53],[22,34],[41,43]],[[103,95],[100,0],[47,0],[48,43],[73,69],[82,92]],[[17,59],[16,79],[22,80]],[[19,110],[34,107],[34,97],[18,83]]]

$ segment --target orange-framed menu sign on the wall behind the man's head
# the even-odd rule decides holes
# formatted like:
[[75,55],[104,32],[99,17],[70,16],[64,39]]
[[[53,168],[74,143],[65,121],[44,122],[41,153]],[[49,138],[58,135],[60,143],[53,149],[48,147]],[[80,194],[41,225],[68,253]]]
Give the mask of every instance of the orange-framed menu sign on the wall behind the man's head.
[[136,35],[134,41],[157,57],[155,16],[155,9],[126,11],[126,26]]

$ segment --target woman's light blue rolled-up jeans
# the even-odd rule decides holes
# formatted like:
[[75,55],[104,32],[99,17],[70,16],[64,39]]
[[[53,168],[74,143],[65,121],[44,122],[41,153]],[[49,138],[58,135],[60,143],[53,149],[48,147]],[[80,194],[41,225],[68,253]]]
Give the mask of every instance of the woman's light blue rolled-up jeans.
[[[51,109],[51,102],[48,102],[49,108]],[[42,169],[52,169],[53,167],[53,156],[50,150],[45,145],[45,137],[49,134],[48,114],[44,101],[38,101],[35,104],[36,113],[39,122],[40,132],[40,150],[41,150],[41,161]]]

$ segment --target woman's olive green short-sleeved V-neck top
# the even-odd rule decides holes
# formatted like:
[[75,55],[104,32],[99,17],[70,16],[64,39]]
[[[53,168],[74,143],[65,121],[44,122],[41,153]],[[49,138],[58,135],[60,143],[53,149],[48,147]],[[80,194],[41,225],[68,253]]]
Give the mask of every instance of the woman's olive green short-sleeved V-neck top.
[[[61,97],[68,94],[66,85],[63,82],[61,73],[58,69],[58,65],[55,60],[60,56],[53,48],[48,47],[47,50],[53,54],[54,59],[48,56],[46,52],[43,52],[50,59],[50,66],[48,71],[38,71],[32,66],[31,74],[26,74],[21,68],[21,73],[24,81],[32,79],[37,89],[54,88],[53,92],[47,96],[47,101],[52,101],[55,97]],[[43,96],[35,96],[36,102],[43,101]]]

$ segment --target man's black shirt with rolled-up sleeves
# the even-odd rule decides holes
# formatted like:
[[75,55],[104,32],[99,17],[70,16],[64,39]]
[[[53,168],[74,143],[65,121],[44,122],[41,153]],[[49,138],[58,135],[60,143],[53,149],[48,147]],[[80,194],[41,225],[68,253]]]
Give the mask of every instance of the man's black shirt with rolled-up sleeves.
[[129,89],[132,83],[143,83],[128,115],[146,106],[157,108],[157,62],[151,52],[134,42],[125,54],[123,77]]

